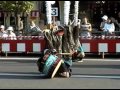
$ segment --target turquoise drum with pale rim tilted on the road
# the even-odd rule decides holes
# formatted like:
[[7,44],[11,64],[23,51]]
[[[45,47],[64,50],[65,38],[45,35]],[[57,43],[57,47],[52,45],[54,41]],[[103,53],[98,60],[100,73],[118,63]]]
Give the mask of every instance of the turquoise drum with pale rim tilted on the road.
[[61,58],[58,58],[57,56],[51,54],[44,63],[43,73],[47,77],[53,78],[62,62],[63,60]]

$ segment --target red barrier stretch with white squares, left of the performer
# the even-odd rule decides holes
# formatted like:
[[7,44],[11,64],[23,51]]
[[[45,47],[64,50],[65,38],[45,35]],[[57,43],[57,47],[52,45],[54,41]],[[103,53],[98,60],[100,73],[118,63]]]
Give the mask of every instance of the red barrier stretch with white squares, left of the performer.
[[18,36],[17,40],[0,40],[1,52],[41,52],[46,41],[42,36]]

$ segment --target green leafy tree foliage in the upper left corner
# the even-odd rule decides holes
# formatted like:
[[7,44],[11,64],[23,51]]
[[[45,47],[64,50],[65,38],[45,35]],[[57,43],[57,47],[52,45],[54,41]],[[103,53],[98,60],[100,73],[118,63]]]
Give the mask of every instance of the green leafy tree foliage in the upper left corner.
[[33,1],[0,1],[0,8],[3,11],[27,12],[33,8]]

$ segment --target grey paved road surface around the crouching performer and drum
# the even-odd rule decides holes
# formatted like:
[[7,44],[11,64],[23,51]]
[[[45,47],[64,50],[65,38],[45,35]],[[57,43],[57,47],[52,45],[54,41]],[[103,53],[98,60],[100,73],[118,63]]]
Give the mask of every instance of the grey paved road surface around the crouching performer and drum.
[[[12,58],[11,58],[12,59]],[[8,60],[11,60],[8,59]],[[73,63],[70,78],[44,79],[35,63],[0,60],[0,89],[118,89],[120,88],[119,59],[84,59]],[[15,61],[16,60],[16,61]],[[32,60],[31,60],[32,61]]]

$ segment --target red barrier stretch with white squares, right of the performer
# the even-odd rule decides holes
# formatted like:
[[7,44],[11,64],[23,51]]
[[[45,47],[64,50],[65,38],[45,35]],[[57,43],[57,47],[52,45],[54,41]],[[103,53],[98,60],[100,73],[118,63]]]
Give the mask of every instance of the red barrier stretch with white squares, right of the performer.
[[107,52],[116,53],[120,52],[120,36],[93,36],[93,37],[80,37],[80,42],[84,52]]

